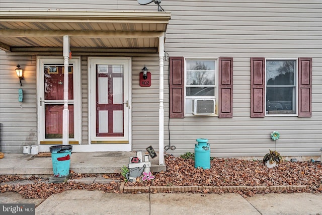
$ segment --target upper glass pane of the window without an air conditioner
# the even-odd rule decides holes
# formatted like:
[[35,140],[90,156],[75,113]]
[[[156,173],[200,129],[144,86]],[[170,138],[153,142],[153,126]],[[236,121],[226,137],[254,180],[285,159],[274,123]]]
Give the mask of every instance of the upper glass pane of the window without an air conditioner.
[[266,60],[266,83],[271,85],[294,85],[296,60]]

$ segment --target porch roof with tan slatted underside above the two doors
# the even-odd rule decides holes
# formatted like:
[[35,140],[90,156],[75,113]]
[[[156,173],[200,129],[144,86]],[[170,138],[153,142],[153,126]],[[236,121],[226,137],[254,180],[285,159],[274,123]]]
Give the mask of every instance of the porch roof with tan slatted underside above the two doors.
[[0,49],[11,52],[104,48],[112,52],[157,53],[169,12],[138,11],[1,11]]

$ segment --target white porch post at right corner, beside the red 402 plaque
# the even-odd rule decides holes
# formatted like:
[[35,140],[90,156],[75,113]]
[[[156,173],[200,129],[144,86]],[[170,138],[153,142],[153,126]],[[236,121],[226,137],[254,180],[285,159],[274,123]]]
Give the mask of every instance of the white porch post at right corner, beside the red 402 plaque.
[[159,165],[164,165],[164,42],[165,37],[159,37]]

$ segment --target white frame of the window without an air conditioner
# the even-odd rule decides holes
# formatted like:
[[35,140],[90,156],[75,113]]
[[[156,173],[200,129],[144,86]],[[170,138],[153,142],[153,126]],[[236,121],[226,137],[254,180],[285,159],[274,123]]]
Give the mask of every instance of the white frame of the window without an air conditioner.
[[[295,60],[296,64],[296,74],[295,74],[295,113],[290,113],[290,114],[268,114],[268,110],[266,109],[266,101],[267,101],[267,80],[266,80],[266,61],[267,60]],[[298,116],[298,58],[265,58],[265,117],[266,116]]]

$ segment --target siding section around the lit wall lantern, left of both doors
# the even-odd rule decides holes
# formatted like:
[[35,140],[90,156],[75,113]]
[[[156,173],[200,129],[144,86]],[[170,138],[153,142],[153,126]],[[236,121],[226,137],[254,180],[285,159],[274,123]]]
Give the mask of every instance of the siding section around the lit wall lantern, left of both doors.
[[[22,152],[24,145],[37,143],[36,67],[34,56],[7,55],[0,51],[0,123],[3,152]],[[19,84],[17,64],[31,77]],[[23,88],[23,102],[18,102],[18,89]]]

